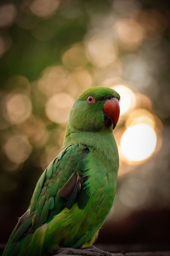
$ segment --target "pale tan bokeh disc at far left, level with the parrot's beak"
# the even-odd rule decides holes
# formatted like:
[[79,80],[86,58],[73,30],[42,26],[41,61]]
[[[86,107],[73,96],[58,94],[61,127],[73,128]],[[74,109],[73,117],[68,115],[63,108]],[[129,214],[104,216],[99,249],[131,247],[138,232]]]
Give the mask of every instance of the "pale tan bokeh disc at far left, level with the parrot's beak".
[[11,123],[18,124],[29,117],[32,104],[28,96],[24,94],[11,94],[6,99],[6,111],[5,118]]

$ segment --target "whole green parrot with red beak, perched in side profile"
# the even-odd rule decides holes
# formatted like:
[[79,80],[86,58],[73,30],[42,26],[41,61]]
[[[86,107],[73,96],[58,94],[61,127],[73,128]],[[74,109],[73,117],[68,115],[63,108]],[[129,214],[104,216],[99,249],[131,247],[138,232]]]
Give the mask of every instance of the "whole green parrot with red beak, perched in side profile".
[[96,86],[75,100],[61,152],[39,178],[3,256],[109,254],[93,243],[116,192],[119,156],[112,130],[119,99],[113,89]]

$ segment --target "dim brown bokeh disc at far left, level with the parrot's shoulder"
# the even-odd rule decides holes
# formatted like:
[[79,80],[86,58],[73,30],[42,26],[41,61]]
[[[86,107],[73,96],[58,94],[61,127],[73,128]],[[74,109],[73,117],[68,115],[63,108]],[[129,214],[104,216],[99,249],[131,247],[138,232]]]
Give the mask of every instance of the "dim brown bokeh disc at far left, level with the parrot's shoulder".
[[11,136],[4,145],[6,156],[14,163],[23,163],[30,155],[32,146],[22,135]]

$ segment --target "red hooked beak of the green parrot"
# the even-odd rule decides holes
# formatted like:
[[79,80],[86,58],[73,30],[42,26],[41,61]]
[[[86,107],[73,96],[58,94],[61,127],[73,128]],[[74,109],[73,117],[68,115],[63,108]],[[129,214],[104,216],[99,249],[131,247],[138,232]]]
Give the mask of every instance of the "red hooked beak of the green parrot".
[[[113,129],[117,125],[117,122],[119,120],[119,114],[120,114],[120,107],[119,107],[119,101],[117,98],[112,98],[110,100],[106,100],[106,102],[103,105],[103,109],[105,114],[112,120]],[[109,119],[106,118],[104,123],[106,125],[109,124]]]

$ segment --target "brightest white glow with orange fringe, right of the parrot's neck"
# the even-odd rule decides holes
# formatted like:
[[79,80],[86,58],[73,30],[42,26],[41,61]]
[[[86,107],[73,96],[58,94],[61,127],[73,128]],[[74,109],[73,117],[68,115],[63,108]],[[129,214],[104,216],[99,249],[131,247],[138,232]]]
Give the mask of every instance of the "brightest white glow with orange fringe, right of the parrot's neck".
[[125,120],[125,130],[118,129],[114,136],[120,156],[119,175],[132,171],[161,147],[161,121],[146,109],[133,110]]

